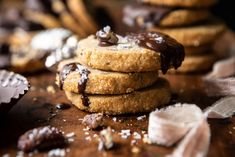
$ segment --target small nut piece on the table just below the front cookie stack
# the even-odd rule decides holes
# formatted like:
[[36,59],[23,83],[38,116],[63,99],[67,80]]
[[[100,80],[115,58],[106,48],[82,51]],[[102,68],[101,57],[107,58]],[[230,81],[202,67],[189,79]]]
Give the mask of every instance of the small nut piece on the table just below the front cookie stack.
[[97,129],[103,125],[103,114],[102,113],[94,113],[86,115],[83,118],[82,123],[87,125],[90,129]]

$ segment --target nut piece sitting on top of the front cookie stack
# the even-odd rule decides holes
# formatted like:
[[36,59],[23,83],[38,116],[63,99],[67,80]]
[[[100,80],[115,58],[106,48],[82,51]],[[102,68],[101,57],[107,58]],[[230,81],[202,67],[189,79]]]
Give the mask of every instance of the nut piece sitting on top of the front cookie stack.
[[117,45],[118,37],[112,32],[109,26],[104,27],[96,33],[96,37],[99,40],[99,46],[111,46]]

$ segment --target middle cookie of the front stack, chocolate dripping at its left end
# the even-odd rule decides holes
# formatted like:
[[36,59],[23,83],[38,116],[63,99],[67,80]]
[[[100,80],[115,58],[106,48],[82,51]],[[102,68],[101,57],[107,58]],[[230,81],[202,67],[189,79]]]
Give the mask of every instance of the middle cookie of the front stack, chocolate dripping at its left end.
[[107,72],[83,66],[75,60],[59,64],[57,82],[61,89],[73,93],[124,94],[148,87],[158,79],[158,72]]

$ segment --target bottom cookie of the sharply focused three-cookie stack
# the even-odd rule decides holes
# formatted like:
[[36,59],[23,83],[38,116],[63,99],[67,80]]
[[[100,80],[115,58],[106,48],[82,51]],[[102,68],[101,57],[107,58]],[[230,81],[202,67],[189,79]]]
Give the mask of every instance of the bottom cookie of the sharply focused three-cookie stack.
[[[65,91],[68,99],[79,109],[107,115],[150,112],[156,107],[169,103],[171,91],[169,83],[159,79],[153,86],[130,94],[84,95]],[[85,105],[85,106],[84,106]]]

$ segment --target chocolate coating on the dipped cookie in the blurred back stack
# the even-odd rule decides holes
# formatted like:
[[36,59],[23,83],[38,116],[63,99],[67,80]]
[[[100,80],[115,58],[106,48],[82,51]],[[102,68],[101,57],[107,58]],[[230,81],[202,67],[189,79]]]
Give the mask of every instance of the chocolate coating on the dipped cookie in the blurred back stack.
[[140,18],[141,27],[148,28],[159,25],[164,17],[176,9],[177,8],[143,4],[128,5],[124,8],[123,20],[127,25],[134,26],[138,18]]

